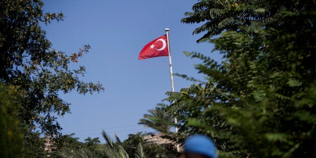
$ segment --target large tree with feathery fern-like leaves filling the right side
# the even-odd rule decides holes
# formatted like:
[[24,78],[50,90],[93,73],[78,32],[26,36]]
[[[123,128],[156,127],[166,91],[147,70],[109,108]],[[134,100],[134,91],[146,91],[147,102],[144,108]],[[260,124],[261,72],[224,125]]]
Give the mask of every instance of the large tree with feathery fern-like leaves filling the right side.
[[[168,93],[169,101],[175,102],[168,112],[183,119],[180,132],[209,135],[222,157],[316,156],[312,143],[316,140],[315,3],[290,2],[258,1],[246,6],[247,11],[269,8],[265,13],[269,16],[262,23],[240,23],[235,30],[218,32],[220,37],[210,41],[223,54],[221,63],[187,53],[202,60],[196,68],[208,80]],[[200,16],[195,15],[200,22],[215,21]],[[218,29],[207,27],[210,33]]]

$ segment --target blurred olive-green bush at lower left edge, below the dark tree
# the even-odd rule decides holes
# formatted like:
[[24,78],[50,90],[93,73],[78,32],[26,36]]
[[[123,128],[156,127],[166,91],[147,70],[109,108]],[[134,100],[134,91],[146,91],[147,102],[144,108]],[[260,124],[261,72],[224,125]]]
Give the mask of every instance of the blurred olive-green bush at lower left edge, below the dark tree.
[[0,157],[22,154],[24,126],[17,111],[23,95],[18,87],[0,83]]

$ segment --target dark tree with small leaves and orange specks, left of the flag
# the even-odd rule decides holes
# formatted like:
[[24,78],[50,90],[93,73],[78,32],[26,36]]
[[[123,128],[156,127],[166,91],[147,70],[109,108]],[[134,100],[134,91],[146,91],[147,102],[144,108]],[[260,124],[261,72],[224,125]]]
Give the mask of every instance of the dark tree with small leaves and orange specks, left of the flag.
[[71,55],[51,48],[41,24],[61,21],[63,14],[43,13],[42,7],[39,0],[0,2],[0,81],[25,91],[24,108],[18,112],[21,121],[31,130],[38,127],[56,136],[61,129],[56,116],[69,112],[69,103],[59,98],[60,92],[92,94],[104,89],[100,83],[80,80],[84,66],[68,67],[89,51],[89,45]]

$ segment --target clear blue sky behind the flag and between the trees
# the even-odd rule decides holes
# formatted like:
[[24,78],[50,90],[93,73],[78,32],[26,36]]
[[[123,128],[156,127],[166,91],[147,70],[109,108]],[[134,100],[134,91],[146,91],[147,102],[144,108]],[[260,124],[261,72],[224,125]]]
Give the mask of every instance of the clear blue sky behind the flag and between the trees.
[[[201,24],[180,22],[197,1],[43,2],[44,12],[62,12],[66,17],[43,26],[52,47],[71,54],[90,44],[91,51],[71,67],[84,65],[87,73],[81,79],[100,81],[105,88],[105,92],[93,95],[61,94],[71,103],[71,114],[58,119],[62,133],[75,133],[80,141],[100,137],[103,142],[102,129],[111,136],[116,133],[121,140],[138,131],[153,132],[137,123],[171,91],[169,60],[167,56],[138,60],[138,54],[145,44],[166,34],[165,28],[170,29],[174,73],[203,78],[194,69],[200,61],[186,57],[183,51],[201,52],[221,60],[218,54],[210,53],[212,44],[196,43],[202,34],[192,35],[192,31]],[[175,91],[180,91],[192,82],[175,76],[174,84]]]

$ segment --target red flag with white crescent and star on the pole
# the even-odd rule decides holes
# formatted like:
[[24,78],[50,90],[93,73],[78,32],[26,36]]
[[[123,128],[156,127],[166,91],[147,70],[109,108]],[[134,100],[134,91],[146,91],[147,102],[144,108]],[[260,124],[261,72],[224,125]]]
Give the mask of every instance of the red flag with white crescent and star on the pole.
[[138,60],[157,56],[168,56],[167,36],[156,38],[146,44],[139,53]]

